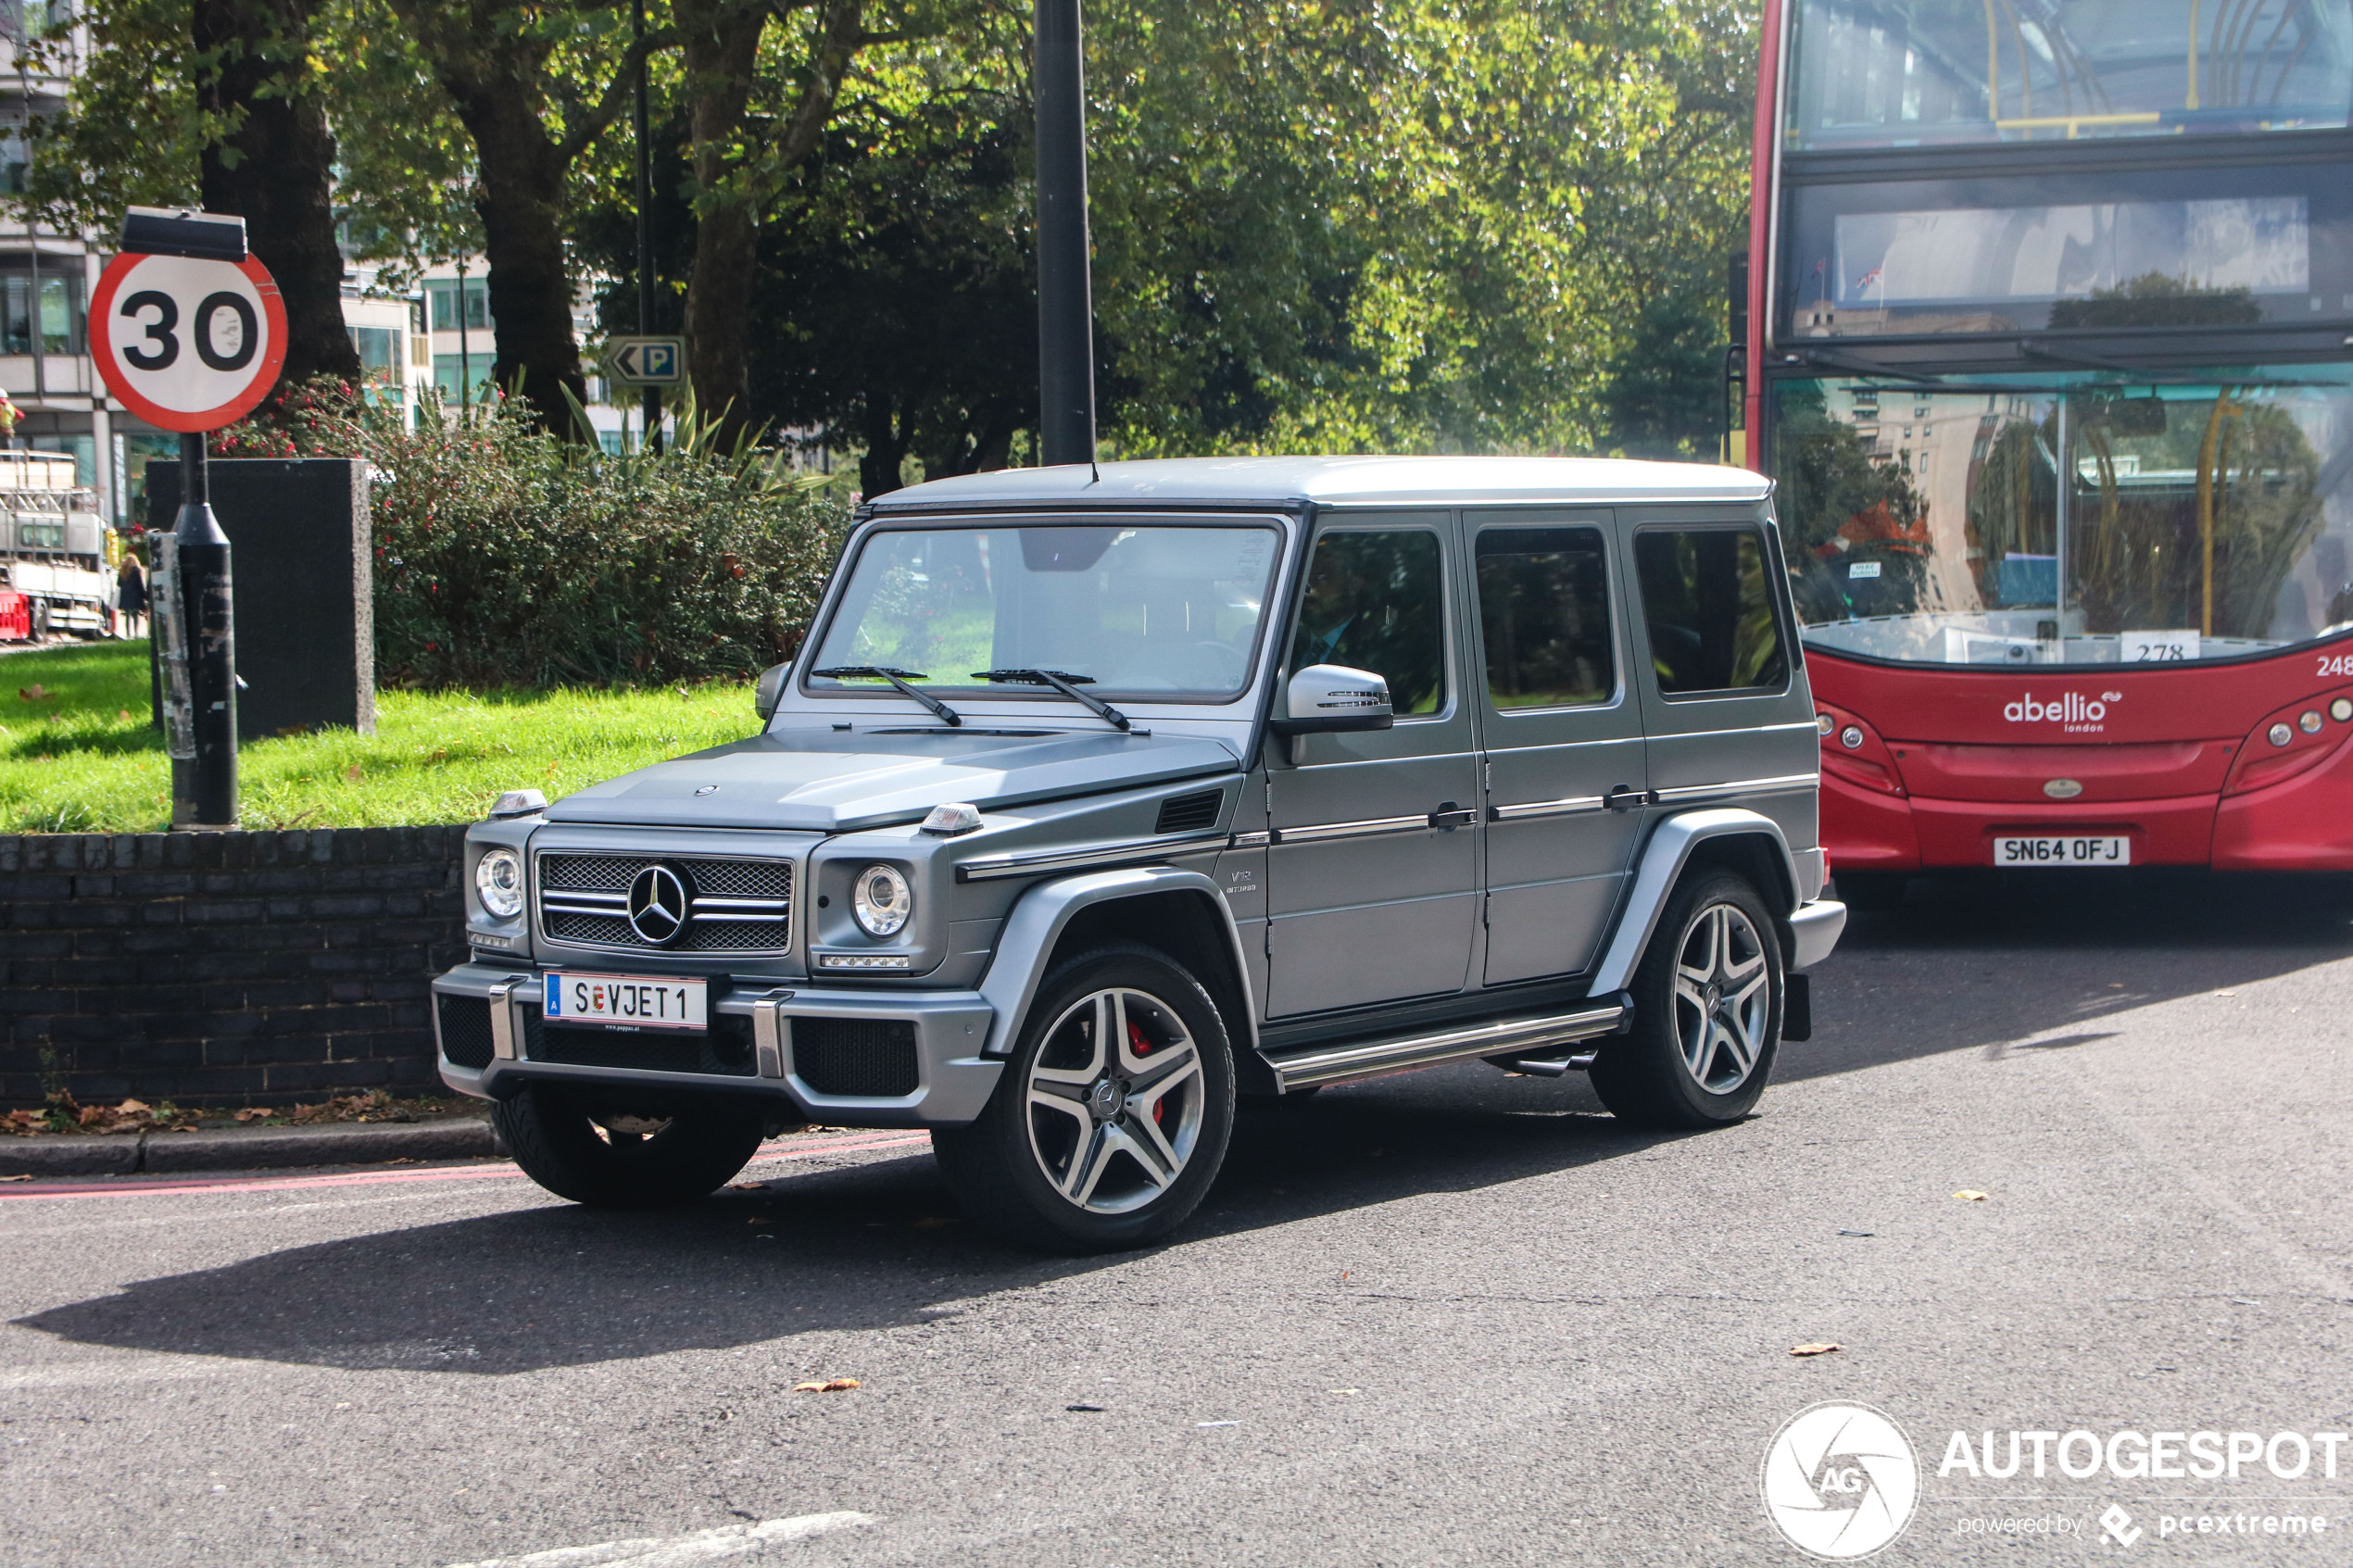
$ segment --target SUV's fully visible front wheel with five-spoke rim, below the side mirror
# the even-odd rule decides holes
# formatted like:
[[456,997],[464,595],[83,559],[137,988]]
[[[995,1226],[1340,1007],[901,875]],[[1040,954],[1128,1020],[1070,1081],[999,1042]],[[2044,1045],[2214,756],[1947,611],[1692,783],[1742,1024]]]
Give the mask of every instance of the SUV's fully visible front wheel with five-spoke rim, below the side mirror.
[[[1106,1018],[1115,1053],[1096,1044]],[[1231,1138],[1233,1046],[1209,992],[1165,952],[1106,943],[1047,973],[988,1107],[934,1131],[932,1150],[965,1211],[1007,1241],[1118,1253],[1200,1206]]]

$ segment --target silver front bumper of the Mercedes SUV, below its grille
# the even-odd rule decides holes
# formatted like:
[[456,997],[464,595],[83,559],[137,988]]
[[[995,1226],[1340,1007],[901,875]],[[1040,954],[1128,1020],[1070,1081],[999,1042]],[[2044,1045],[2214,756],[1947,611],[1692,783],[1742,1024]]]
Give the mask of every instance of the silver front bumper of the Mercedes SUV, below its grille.
[[[995,1011],[979,992],[852,992],[824,985],[772,987],[753,983],[713,999],[711,1011],[739,1020],[751,1032],[748,1072],[668,1072],[607,1067],[534,1058],[541,983],[527,964],[461,964],[433,980],[433,1039],[442,1081],[466,1095],[504,1100],[529,1084],[659,1086],[666,1091],[729,1093],[776,1100],[809,1121],[833,1126],[962,1126],[981,1114],[998,1086],[1005,1060],[981,1056]],[[442,999],[480,1001],[489,1009],[487,1063],[452,1060],[449,1009]],[[908,1025],[913,1030],[911,1093],[826,1093],[800,1072],[793,1053],[795,1020],[852,1020]],[[562,1034],[562,1030],[558,1030]],[[624,1034],[628,1041],[647,1034]],[[689,1037],[701,1039],[701,1037]],[[461,1056],[478,1051],[456,1046]]]

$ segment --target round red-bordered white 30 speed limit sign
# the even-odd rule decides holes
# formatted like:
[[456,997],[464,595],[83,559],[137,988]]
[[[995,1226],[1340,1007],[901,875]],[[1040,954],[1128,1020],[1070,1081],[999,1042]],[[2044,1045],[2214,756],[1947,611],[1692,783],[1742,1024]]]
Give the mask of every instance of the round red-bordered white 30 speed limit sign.
[[151,256],[106,263],[89,299],[89,348],[122,404],[165,430],[245,418],[287,357],[287,308],[256,259]]

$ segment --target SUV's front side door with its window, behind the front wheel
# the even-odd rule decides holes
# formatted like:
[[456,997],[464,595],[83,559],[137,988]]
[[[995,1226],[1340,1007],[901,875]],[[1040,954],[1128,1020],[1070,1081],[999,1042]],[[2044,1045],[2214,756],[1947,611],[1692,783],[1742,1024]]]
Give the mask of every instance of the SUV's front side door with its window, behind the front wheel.
[[[1292,670],[1388,682],[1395,729],[1301,736],[1268,769],[1271,1018],[1464,990],[1478,929],[1478,752],[1461,691],[1447,512],[1325,527]],[[1280,701],[1280,698],[1278,698]]]

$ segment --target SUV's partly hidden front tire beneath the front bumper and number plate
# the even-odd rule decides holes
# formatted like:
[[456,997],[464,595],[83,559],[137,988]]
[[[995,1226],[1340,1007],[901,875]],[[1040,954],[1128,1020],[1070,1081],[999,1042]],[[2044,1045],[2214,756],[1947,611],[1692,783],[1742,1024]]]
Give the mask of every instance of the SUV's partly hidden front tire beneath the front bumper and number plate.
[[[765,1114],[734,1105],[699,1105],[659,1131],[628,1131],[628,1119],[595,1110],[555,1086],[525,1088],[492,1112],[522,1173],[560,1199],[591,1208],[675,1208],[727,1185],[760,1147]],[[605,1121],[621,1121],[609,1131]]]

